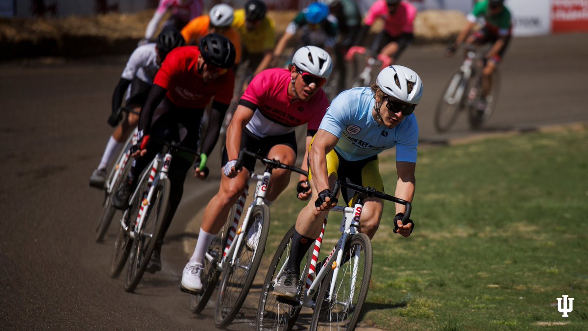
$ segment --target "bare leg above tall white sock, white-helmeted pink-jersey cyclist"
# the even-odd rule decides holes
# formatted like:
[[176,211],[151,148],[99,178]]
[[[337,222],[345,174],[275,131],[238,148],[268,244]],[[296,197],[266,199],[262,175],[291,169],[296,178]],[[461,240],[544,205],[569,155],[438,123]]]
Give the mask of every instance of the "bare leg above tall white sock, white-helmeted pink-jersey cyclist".
[[229,216],[230,207],[237,202],[245,189],[248,178],[249,170],[245,167],[235,178],[220,176],[219,191],[212,197],[204,210],[202,230],[212,234],[219,233]]

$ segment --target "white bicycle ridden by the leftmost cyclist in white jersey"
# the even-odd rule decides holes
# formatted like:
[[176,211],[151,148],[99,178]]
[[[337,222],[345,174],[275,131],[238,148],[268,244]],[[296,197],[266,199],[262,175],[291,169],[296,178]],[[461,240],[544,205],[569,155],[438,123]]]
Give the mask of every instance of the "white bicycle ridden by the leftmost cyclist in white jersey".
[[[129,114],[136,114],[139,115],[138,112],[132,110],[131,108],[121,107],[119,108],[120,112],[128,112]],[[124,147],[119,153],[118,158],[116,158],[115,163],[112,165],[112,169],[104,184],[104,201],[102,203],[102,215],[100,216],[100,220],[98,222],[98,226],[96,226],[96,242],[99,243],[104,239],[106,231],[108,231],[108,227],[112,222],[112,218],[116,213],[116,208],[112,206],[112,196],[118,190],[120,184],[122,183],[122,178],[126,178],[129,171],[131,170],[131,146],[136,144],[137,142],[137,128],[133,130],[133,133],[127,138]]]

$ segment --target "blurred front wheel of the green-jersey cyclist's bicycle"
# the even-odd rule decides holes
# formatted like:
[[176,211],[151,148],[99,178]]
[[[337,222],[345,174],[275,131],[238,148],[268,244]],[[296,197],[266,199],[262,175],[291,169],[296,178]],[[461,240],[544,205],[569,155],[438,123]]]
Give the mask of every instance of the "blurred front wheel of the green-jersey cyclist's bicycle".
[[467,81],[463,78],[463,72],[457,70],[447,83],[447,88],[435,110],[435,128],[437,132],[449,130],[455,121],[459,111],[463,109],[463,95],[467,88]]

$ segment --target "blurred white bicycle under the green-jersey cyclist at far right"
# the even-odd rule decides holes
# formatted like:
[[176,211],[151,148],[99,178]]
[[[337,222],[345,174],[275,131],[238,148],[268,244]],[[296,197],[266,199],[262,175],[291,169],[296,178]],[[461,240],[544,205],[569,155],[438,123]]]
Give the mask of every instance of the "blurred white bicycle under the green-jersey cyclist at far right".
[[435,128],[441,133],[455,124],[463,110],[467,110],[470,127],[479,129],[492,115],[498,101],[500,75],[496,69],[492,75],[492,90],[486,96],[486,107],[484,110],[478,109],[477,105],[482,98],[482,69],[486,50],[471,44],[462,44],[461,47],[466,49],[466,58],[449,80],[435,110]]

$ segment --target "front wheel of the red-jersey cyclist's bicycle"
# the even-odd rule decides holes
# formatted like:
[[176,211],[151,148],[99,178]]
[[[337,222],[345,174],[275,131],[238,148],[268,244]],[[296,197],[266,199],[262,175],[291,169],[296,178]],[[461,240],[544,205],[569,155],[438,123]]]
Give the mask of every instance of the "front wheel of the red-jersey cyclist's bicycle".
[[[148,180],[145,177],[145,180]],[[160,178],[153,190],[149,209],[143,220],[142,229],[135,233],[125,277],[125,291],[133,292],[147,269],[155,245],[161,239],[163,220],[168,211],[170,183],[168,178]]]

